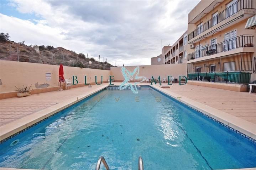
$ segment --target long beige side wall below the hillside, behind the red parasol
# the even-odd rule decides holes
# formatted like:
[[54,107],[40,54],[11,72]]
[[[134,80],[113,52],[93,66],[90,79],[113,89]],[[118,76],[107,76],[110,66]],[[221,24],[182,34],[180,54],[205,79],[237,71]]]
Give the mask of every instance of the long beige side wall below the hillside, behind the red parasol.
[[[72,76],[76,75],[80,85],[84,84],[84,75],[87,81],[95,83],[95,75],[98,82],[106,81],[110,75],[110,70],[99,70],[89,68],[78,68],[63,66],[64,78],[72,81]],[[51,73],[51,80],[46,80],[46,73]],[[0,61],[0,93],[15,91],[17,87],[30,86],[32,89],[50,89],[58,87],[59,66],[38,63],[26,63],[16,61]],[[79,85],[77,85],[79,86]],[[75,87],[75,86],[73,86]]]

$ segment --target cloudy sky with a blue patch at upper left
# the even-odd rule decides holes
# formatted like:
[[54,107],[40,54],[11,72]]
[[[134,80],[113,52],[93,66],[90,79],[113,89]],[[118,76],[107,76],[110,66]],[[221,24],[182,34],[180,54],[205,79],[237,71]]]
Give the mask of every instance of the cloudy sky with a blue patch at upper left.
[[64,47],[114,66],[150,65],[186,30],[200,0],[0,0],[0,32]]

